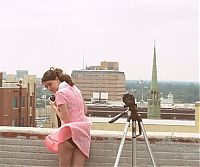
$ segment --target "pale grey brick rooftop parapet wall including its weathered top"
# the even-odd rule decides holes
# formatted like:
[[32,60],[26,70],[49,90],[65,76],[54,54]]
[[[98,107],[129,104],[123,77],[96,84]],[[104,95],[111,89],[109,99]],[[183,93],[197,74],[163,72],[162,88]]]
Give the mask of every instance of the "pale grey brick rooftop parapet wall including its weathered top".
[[[57,167],[58,155],[44,146],[46,135],[56,129],[0,127],[0,166]],[[112,167],[123,135],[121,131],[92,130],[90,158],[86,167]],[[185,135],[185,136],[183,136]],[[132,166],[132,138],[128,132],[119,161],[120,167]],[[148,133],[150,148],[157,166],[199,165],[200,140],[188,133]],[[144,137],[136,138],[137,166],[152,166]]]

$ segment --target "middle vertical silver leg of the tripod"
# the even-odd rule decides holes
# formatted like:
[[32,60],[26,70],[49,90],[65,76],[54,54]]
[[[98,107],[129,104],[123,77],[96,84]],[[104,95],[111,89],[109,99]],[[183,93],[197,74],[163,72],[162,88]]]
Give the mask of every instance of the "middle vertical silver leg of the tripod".
[[136,167],[136,121],[132,121],[132,166]]

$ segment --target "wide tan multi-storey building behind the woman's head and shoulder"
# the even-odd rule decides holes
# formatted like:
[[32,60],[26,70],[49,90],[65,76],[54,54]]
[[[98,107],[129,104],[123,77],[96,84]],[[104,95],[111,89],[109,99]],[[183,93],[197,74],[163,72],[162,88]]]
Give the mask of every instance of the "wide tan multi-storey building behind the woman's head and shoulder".
[[99,102],[101,102],[101,94],[107,94],[108,101],[121,101],[125,93],[125,74],[118,70],[118,63],[101,62],[100,67],[94,67],[87,67],[86,70],[73,70],[71,74],[84,100],[91,101],[93,94],[98,93]]

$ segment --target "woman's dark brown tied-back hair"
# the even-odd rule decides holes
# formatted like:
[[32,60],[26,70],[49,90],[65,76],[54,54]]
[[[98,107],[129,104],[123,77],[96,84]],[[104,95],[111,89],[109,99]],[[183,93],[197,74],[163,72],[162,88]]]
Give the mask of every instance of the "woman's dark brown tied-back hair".
[[73,86],[74,83],[69,75],[65,74],[60,68],[51,67],[48,71],[46,71],[42,77],[42,83],[50,80],[55,80],[56,77],[60,82],[67,82],[70,86]]

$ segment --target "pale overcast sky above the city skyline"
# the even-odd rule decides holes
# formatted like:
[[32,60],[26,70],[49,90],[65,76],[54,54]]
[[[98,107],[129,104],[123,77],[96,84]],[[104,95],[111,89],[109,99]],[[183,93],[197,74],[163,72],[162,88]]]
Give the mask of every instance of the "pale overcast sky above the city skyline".
[[71,74],[119,62],[127,80],[199,82],[198,0],[0,0],[0,71]]

